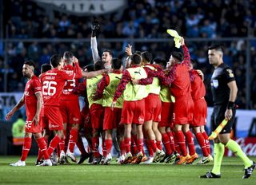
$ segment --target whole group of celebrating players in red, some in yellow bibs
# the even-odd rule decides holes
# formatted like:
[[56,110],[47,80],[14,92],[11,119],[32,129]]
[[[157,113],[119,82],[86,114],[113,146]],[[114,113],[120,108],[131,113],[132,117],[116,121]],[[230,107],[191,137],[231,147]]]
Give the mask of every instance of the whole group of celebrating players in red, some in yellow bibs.
[[[8,112],[6,120],[26,105],[25,141],[21,159],[10,165],[26,165],[32,135],[39,148],[38,166],[57,164],[55,149],[59,163],[66,163],[66,157],[70,157],[76,163],[90,158],[94,164],[109,164],[113,144],[120,151],[121,164],[189,164],[198,159],[194,136],[202,148],[198,164],[213,160],[204,130],[207,105],[203,75],[193,69],[183,37],[183,54],[172,52],[168,62],[152,60],[148,51],[133,54],[129,45],[123,66],[110,50],[99,57],[94,30],[97,25],[93,26],[91,37],[94,65],[82,70],[78,59],[65,52],[63,56],[52,56],[50,64],[42,65],[42,73],[36,77],[34,62],[24,62],[22,73],[29,81],[22,99]],[[84,79],[79,83],[81,78]],[[81,112],[78,96],[85,97]],[[79,134],[82,127],[87,152]],[[50,140],[51,135],[54,136]],[[100,138],[102,154],[98,150]],[[78,161],[74,156],[75,144],[81,152]]]

